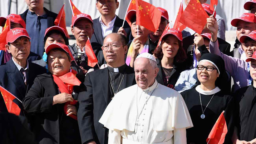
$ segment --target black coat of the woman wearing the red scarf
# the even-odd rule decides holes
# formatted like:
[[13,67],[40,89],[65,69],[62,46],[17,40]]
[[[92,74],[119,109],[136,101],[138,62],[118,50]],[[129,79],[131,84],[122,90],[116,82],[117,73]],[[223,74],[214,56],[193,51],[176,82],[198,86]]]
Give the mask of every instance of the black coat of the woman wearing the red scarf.
[[[75,100],[78,98],[78,93],[83,90],[85,90],[83,84],[74,86],[75,94],[72,96]],[[59,94],[58,86],[54,83],[51,73],[35,78],[33,86],[23,100],[24,110],[31,118],[31,130],[39,144],[59,144],[60,127],[67,126],[68,128],[65,129],[67,133],[72,133],[67,139],[79,144],[81,139],[77,121],[64,114],[64,104],[53,105],[53,96],[57,94]],[[61,125],[64,119],[69,121],[68,125]]]

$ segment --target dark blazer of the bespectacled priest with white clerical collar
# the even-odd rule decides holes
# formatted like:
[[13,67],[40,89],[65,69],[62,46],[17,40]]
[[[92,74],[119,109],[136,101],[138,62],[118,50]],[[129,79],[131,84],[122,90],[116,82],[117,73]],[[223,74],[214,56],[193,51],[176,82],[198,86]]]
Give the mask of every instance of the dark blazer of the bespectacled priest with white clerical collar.
[[[136,84],[133,68],[127,66],[123,79],[124,88]],[[84,84],[86,92],[79,94],[78,125],[82,144],[95,141],[108,143],[108,129],[99,123],[99,119],[111,101],[108,68],[88,73]]]

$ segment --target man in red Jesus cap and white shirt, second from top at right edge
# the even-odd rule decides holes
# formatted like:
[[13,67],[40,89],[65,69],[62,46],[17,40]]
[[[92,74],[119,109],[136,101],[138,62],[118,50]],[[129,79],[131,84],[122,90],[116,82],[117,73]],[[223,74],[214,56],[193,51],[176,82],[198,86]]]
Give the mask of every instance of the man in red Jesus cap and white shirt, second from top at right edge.
[[244,13],[239,18],[233,19],[231,25],[236,27],[236,43],[233,49],[234,57],[246,60],[243,48],[245,45],[238,41],[242,35],[248,35],[251,31],[256,30],[256,16],[251,13]]

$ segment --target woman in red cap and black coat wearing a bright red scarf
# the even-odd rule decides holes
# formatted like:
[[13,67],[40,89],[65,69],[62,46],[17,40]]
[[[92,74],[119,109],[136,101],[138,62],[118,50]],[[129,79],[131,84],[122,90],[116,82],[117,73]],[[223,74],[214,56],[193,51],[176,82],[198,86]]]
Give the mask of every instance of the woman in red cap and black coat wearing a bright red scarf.
[[85,86],[70,69],[74,58],[67,45],[50,44],[45,52],[49,72],[35,78],[23,100],[31,130],[39,144],[79,144],[76,100]]

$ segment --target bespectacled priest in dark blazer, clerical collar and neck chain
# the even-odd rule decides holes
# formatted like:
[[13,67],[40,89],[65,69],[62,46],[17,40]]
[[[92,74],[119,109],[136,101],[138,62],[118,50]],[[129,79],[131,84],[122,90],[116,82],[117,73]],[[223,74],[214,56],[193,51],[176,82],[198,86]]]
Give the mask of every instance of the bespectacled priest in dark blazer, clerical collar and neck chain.
[[77,114],[82,144],[108,143],[108,129],[99,119],[116,93],[136,84],[133,68],[124,61],[127,49],[123,35],[109,34],[102,46],[108,67],[85,77],[87,91],[79,94]]

